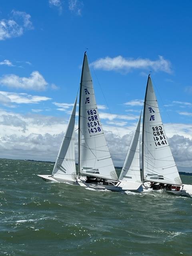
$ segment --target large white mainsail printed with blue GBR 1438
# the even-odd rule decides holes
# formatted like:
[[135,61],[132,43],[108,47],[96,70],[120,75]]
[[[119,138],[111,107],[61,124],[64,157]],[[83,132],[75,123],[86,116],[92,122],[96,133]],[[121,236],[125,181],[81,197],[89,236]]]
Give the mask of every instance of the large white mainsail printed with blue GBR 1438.
[[80,172],[87,176],[117,180],[96,105],[86,54],[82,67],[79,105]]

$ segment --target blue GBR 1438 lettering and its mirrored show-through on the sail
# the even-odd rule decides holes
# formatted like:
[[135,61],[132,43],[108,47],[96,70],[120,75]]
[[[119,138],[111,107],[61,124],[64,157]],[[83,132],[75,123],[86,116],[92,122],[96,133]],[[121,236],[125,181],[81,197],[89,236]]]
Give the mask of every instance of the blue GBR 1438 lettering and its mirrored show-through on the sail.
[[99,126],[100,124],[96,109],[87,110],[87,114],[89,120],[89,122],[87,123],[89,133],[100,132],[101,128]]

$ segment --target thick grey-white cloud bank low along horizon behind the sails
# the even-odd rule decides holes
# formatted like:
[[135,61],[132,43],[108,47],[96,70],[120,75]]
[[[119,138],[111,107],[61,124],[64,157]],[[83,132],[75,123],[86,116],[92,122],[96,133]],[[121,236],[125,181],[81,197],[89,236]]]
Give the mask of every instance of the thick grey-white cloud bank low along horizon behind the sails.
[[[0,148],[2,149],[0,157],[55,161],[67,123],[68,117],[64,120],[63,117],[21,115],[0,110]],[[167,136],[170,138],[169,143],[176,164],[179,170],[180,167],[184,170],[192,164],[192,125],[174,124],[174,130],[172,127],[172,124],[166,124],[165,130],[168,131]],[[122,166],[135,128],[136,122],[128,123],[126,127],[122,126],[118,129],[113,123],[103,125],[116,166]],[[77,135],[76,132],[76,138]]]

